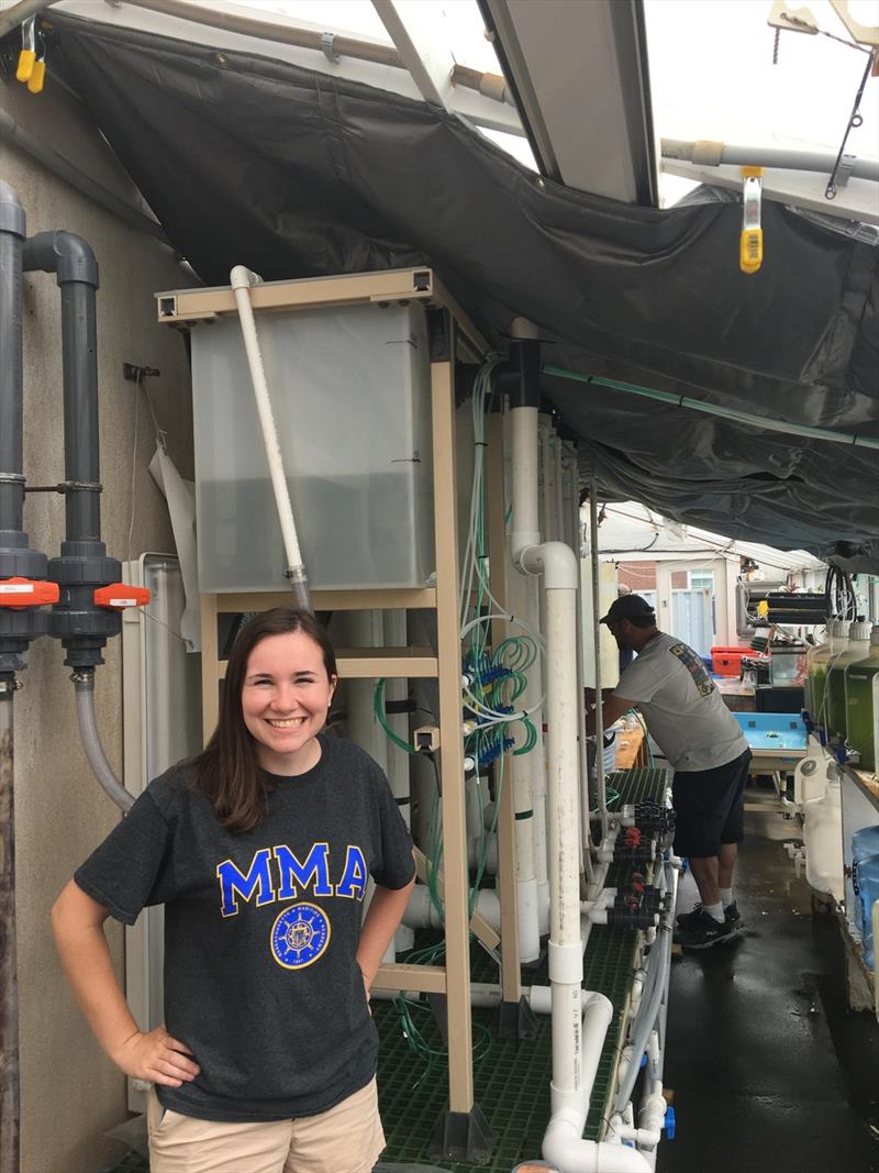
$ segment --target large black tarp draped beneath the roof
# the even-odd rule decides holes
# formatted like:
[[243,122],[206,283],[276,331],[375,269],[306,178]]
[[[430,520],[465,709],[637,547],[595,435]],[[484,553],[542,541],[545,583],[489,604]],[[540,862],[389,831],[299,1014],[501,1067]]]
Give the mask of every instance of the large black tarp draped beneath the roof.
[[[879,249],[764,202],[668,211],[538,181],[461,118],[268,57],[53,16],[76,89],[207,283],[434,267],[499,348],[537,323],[545,361],[776,420],[879,436]],[[545,378],[602,493],[730,537],[879,569],[875,450],[786,438]],[[861,569],[865,564],[861,564]]]

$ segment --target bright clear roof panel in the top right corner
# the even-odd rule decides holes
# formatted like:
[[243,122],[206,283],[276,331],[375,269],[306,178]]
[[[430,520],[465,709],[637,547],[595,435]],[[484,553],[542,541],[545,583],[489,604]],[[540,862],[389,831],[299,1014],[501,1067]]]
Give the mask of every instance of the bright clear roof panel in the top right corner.
[[[646,0],[660,137],[839,149],[867,53],[841,43],[851,38],[829,0],[808,5],[822,33],[784,30],[776,46],[771,8],[771,0]],[[852,2],[851,13],[875,23],[877,5]],[[877,157],[879,79],[867,81],[860,113],[846,152]]]

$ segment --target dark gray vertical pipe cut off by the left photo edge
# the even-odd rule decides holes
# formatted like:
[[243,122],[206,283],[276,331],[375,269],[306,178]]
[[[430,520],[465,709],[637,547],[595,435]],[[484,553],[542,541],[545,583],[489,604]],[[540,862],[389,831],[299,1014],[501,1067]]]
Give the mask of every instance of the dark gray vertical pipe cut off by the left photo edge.
[[[21,531],[25,506],[21,251],[26,235],[19,197],[0,179],[0,531],[14,533]],[[7,544],[0,540],[0,545]]]

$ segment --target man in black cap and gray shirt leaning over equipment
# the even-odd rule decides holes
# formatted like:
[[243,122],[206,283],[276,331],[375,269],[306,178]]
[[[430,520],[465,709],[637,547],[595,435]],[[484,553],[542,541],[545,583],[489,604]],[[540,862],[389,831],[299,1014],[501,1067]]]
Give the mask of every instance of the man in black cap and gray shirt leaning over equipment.
[[[701,657],[656,626],[640,595],[618,598],[601,619],[620,650],[636,658],[604,694],[605,728],[639,708],[674,768],[675,850],[689,856],[702,903],[677,918],[677,940],[707,949],[741,925],[732,872],[744,838],[744,785],[750,751]],[[594,700],[587,690],[587,703]]]

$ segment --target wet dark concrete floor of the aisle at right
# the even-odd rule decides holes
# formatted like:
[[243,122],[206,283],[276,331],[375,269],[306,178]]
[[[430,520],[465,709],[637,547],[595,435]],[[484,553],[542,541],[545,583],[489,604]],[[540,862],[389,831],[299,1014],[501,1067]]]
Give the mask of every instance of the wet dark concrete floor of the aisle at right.
[[[735,894],[745,929],[672,967],[660,1173],[879,1171],[879,1024],[851,1012],[832,916],[813,916],[774,792],[747,792]],[[679,910],[696,899],[684,877]],[[689,896],[689,900],[688,900]]]

